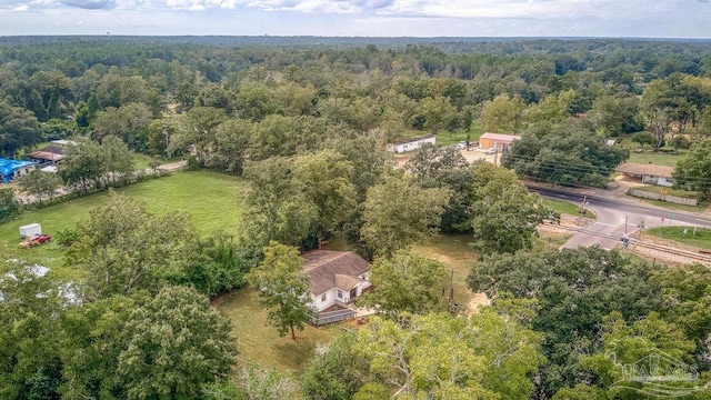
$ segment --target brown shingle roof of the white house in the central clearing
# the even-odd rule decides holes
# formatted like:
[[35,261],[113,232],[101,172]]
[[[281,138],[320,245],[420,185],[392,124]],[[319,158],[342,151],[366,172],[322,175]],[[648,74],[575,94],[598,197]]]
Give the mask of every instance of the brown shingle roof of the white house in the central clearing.
[[370,270],[368,261],[352,251],[312,250],[303,254],[303,273],[309,277],[311,293],[319,296],[338,288],[351,290],[364,280],[358,278]]

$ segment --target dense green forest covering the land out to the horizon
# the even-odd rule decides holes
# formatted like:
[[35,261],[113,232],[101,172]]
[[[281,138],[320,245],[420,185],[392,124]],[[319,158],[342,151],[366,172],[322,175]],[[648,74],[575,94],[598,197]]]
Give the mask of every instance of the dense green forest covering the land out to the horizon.
[[[522,137],[503,167],[425,147],[394,168],[384,151],[482,132]],[[537,250],[535,227],[559,214],[519,183],[604,187],[630,156],[612,138],[691,148],[678,182],[708,193],[709,136],[707,41],[0,38],[0,157],[74,143],[58,177],[20,179],[32,207],[60,184],[132,182],[134,152],[246,188],[227,221],[237,237],[111,193],[56,238],[71,280],[0,243],[0,397],[627,399],[645,388],[615,384],[620,366],[657,352],[694,366],[675,390],[709,398],[708,268]],[[11,190],[0,200],[0,222],[23,209]],[[471,240],[467,287],[491,306],[437,312],[444,269],[410,251],[434,232]],[[309,311],[299,251],[333,238],[373,261],[362,304],[380,316],[302,373],[242,366],[209,299],[260,288],[270,323],[296,338]]]

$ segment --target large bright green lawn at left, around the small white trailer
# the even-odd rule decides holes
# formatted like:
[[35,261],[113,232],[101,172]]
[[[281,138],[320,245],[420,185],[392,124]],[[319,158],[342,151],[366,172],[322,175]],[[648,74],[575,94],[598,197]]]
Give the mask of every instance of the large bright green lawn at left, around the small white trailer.
[[[236,177],[189,171],[121,188],[117,192],[146,202],[151,212],[184,210],[192,216],[196,228],[202,233],[218,230],[234,233],[241,212],[238,194],[242,188],[242,180]],[[20,242],[19,227],[32,222],[41,223],[42,231],[49,234],[74,227],[77,222],[88,218],[91,209],[103,204],[107,196],[106,192],[97,193],[28,211],[13,221],[0,224],[0,242],[17,247]],[[56,243],[24,251],[48,267],[59,267],[62,263],[62,249]]]

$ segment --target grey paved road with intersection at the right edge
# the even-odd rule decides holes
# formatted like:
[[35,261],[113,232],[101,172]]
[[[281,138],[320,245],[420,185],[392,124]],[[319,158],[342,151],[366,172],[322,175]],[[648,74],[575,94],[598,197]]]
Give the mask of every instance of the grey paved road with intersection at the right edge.
[[[543,197],[573,203],[581,203],[583,196],[585,196],[574,189],[535,186],[529,187],[529,190],[538,192]],[[711,229],[711,218],[705,216],[645,207],[632,199],[612,199],[590,194],[587,194],[585,199],[589,202],[588,207],[590,210],[598,217],[594,223],[589,222],[589,224],[584,227],[585,230],[593,232],[593,234],[577,233],[563,244],[564,248],[598,244],[605,249],[612,249],[620,243],[619,239],[625,232],[625,221],[628,234],[637,232],[640,223],[644,223],[645,228],[660,227],[662,224],[662,218],[664,218],[663,224],[665,227],[669,224],[697,226]]]

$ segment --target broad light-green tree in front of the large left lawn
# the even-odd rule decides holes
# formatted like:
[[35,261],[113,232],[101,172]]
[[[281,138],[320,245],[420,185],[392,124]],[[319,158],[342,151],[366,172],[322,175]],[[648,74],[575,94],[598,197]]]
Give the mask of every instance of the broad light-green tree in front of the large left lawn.
[[157,290],[173,270],[183,270],[194,250],[194,229],[184,213],[152,214],[143,203],[112,193],[79,223],[80,240],[68,263],[90,272],[89,299],[139,289]]

